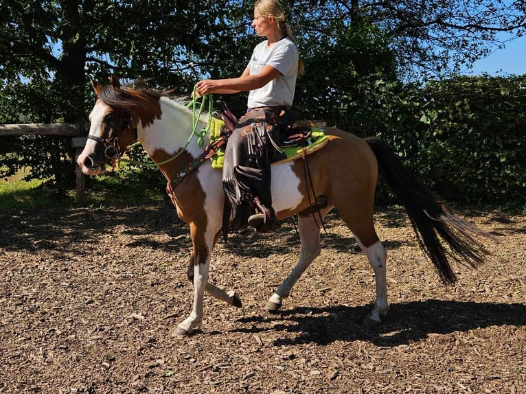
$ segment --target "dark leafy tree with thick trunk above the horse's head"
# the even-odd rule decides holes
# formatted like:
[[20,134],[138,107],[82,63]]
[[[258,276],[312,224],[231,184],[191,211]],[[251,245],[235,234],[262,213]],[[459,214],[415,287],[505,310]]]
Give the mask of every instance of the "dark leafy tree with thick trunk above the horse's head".
[[[148,78],[153,86],[181,86],[187,93],[209,61],[217,62],[222,51],[233,53],[233,33],[245,33],[245,25],[229,23],[242,13],[229,3],[203,8],[202,1],[2,1],[0,119],[87,121],[93,102],[87,75]],[[32,177],[71,187],[69,145],[49,137],[12,140],[2,150],[16,150],[18,157],[4,158],[1,174],[27,165]]]

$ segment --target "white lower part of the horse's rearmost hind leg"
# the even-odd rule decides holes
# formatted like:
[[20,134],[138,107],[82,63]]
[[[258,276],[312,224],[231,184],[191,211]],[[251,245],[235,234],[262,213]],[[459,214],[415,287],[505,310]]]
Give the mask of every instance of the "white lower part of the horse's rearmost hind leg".
[[380,241],[366,248],[358,240],[358,237],[354,235],[354,239],[358,242],[358,245],[362,248],[369,264],[371,264],[376,281],[376,301],[374,302],[374,310],[369,314],[369,318],[380,323],[380,316],[385,315],[389,309],[387,303],[387,278],[385,270],[387,268],[387,252]]

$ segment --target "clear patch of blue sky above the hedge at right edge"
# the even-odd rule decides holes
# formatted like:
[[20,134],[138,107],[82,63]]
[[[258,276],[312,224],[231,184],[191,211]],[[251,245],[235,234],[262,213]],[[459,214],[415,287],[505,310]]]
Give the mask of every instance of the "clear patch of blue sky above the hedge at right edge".
[[526,36],[506,43],[504,49],[496,49],[487,58],[477,60],[473,69],[461,73],[474,76],[488,73],[501,77],[526,74]]

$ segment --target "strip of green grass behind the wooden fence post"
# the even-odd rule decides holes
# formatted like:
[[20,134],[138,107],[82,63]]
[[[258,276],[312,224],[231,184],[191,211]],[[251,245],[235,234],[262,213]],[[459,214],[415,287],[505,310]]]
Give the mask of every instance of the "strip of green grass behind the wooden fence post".
[[[0,180],[0,209],[38,209],[76,207],[75,190],[58,195],[42,180],[25,181],[29,169]],[[159,173],[160,176],[160,173]],[[144,202],[161,202],[164,185],[157,174],[140,171],[106,172],[90,179],[84,205],[135,205]]]

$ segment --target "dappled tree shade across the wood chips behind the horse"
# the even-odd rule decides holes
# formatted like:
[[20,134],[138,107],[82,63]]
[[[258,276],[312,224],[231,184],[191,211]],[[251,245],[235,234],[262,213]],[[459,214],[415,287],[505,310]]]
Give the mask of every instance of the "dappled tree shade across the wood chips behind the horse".
[[[393,211],[393,218],[400,216]],[[337,218],[332,213],[327,222]],[[339,223],[336,221],[336,223]],[[0,248],[6,250],[61,251],[71,254],[78,251],[78,242],[97,243],[102,235],[122,231],[133,235],[134,240],[126,246],[159,248],[174,252],[181,248],[190,248],[190,231],[176,215],[171,205],[153,205],[144,207],[83,207],[0,210]],[[155,242],[151,235],[167,234],[168,242]],[[332,233],[330,224],[327,232],[321,232],[322,248],[347,253],[361,253],[360,248],[348,231],[347,236]],[[279,244],[271,242],[279,237]],[[408,240],[386,240],[388,248],[398,248]],[[299,235],[293,219],[284,220],[282,227],[273,233],[258,235],[251,229],[229,235],[227,244],[220,241],[229,253],[240,257],[268,257],[271,254],[290,253],[297,249],[299,253]]]

